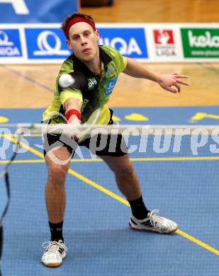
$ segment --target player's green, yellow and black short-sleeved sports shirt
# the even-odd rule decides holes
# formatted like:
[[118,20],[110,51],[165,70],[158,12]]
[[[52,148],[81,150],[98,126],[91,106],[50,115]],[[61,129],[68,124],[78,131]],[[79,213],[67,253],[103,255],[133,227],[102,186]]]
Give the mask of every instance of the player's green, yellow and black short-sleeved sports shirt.
[[[94,110],[101,108],[101,115],[96,124],[108,124],[110,111],[106,103],[116,85],[118,74],[127,65],[127,59],[110,46],[99,46],[99,52],[103,64],[101,76],[92,72],[74,54],[65,59],[56,79],[52,103],[43,113],[43,121],[52,119],[51,123],[63,123],[64,102],[74,97],[82,101],[82,123],[88,120]],[[59,79],[62,74],[70,74],[74,83],[66,88],[61,87]]]

